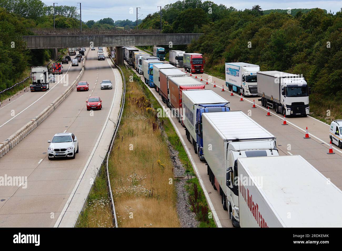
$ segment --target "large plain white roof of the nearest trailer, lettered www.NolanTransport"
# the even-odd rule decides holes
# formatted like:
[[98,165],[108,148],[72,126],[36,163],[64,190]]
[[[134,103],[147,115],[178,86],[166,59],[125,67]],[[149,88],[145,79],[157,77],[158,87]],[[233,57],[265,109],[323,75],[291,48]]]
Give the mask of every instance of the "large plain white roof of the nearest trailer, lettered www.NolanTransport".
[[341,190],[302,156],[239,158],[239,162],[250,177],[262,177],[258,190],[284,227],[342,226]]

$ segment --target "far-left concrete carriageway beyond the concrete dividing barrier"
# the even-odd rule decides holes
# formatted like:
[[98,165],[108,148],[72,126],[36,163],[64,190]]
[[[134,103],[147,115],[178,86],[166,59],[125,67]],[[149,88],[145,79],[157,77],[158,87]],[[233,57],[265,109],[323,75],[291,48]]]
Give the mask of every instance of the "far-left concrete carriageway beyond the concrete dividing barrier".
[[2,106],[0,108],[0,143],[47,108],[68,88],[69,84],[73,83],[81,69],[82,62],[79,63],[79,66],[71,67],[71,61],[69,61],[69,64],[63,65],[63,74],[55,74],[56,82],[50,83],[50,89],[47,92],[31,93],[27,88],[28,92]]

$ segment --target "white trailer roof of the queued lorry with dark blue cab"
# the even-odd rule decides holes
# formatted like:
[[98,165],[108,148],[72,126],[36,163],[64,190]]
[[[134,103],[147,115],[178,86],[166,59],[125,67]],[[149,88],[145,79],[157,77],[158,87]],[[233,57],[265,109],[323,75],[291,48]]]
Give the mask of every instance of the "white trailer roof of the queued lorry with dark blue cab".
[[186,95],[194,104],[229,103],[212,90],[185,90],[182,95]]

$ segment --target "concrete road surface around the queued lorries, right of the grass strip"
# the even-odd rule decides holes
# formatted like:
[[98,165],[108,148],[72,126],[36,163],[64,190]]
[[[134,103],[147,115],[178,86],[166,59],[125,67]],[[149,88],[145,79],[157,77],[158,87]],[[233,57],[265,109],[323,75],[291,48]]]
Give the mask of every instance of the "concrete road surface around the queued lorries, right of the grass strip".
[[[165,61],[167,63],[167,61]],[[181,69],[181,68],[179,68]],[[184,71],[184,69],[182,69]],[[135,72],[135,71],[134,71]],[[144,82],[144,77],[140,76]],[[198,74],[197,80],[200,81],[201,75],[203,83],[206,83],[208,78],[209,83],[206,85],[206,89],[211,89],[215,93],[219,94],[231,104],[233,111],[243,111],[246,114],[250,114],[251,118],[263,126],[266,130],[274,134],[277,138],[277,148],[279,155],[301,155],[310,164],[312,164],[318,171],[320,171],[325,177],[335,184],[339,189],[342,189],[342,151],[334,147],[336,154],[327,154],[329,148],[329,125],[316,120],[313,117],[289,117],[286,118],[289,125],[281,125],[283,118],[274,111],[271,111],[272,116],[266,116],[266,109],[261,106],[261,102],[256,98],[249,97],[244,98],[244,101],[240,101],[240,96],[234,93],[234,96],[230,96],[230,92],[225,87],[225,81],[215,78],[207,74]],[[193,75],[195,78],[195,75]],[[212,83],[211,83],[212,82]],[[213,87],[214,83],[217,87]],[[225,91],[222,92],[222,85],[224,85]],[[147,85],[146,85],[147,86]],[[166,104],[161,101],[161,96],[153,88],[148,87],[151,92],[157,97],[160,103],[167,109]],[[253,99],[257,108],[252,108]],[[281,115],[281,114],[280,114]],[[209,176],[207,175],[207,166],[204,162],[201,162],[195,154],[193,145],[186,139],[184,127],[178,122],[177,118],[171,118],[176,128],[179,130],[191,156],[193,158],[197,169],[199,170],[200,177],[208,191],[210,200],[213,204],[214,211],[218,215],[216,224],[222,227],[233,227],[231,220],[229,219],[228,211],[223,210],[221,204],[221,196],[219,192],[213,189]],[[304,139],[305,128],[309,129],[310,139]],[[290,165],[291,163],[289,163]],[[295,175],[295,174],[294,174]]]

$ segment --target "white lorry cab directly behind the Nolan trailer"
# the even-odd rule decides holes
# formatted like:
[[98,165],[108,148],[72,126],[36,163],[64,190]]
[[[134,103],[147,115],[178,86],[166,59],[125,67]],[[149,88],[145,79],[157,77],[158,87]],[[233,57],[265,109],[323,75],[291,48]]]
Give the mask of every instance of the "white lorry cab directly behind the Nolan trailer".
[[[239,193],[237,159],[248,157],[279,156],[275,141],[226,142],[226,209],[233,226],[239,226]],[[262,177],[254,177],[262,182]],[[259,179],[259,180],[258,180]],[[224,196],[223,196],[224,197]],[[223,201],[224,203],[225,201]],[[224,206],[224,205],[223,205]]]

